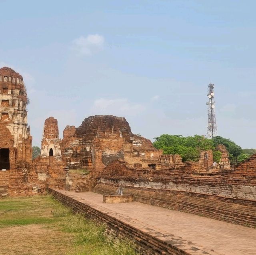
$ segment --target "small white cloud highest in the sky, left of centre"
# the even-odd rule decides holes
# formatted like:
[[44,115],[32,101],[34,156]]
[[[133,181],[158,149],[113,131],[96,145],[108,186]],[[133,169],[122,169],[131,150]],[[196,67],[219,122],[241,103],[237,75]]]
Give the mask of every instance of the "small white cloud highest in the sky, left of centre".
[[73,41],[74,48],[82,55],[92,55],[103,48],[104,37],[99,34],[81,36]]

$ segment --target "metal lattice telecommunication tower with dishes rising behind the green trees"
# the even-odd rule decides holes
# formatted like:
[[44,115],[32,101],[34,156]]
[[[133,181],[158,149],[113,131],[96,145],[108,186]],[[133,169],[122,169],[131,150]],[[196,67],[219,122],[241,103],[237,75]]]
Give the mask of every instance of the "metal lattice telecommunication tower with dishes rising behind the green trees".
[[207,127],[207,137],[213,138],[217,135],[217,124],[215,116],[215,101],[214,101],[214,84],[210,83],[208,85],[208,127]]

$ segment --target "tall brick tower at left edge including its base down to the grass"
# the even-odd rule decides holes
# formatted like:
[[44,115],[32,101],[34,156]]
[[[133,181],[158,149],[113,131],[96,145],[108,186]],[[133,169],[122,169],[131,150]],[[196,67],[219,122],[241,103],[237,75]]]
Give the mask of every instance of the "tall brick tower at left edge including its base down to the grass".
[[1,68],[0,195],[25,195],[43,190],[32,166],[27,104],[22,76],[11,68]]

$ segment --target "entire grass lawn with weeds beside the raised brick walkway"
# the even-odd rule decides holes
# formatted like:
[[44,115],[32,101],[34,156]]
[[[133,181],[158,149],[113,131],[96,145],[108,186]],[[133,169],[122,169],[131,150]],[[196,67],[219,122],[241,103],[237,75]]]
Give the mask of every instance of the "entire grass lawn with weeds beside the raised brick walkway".
[[50,195],[0,199],[1,255],[135,255],[133,247]]

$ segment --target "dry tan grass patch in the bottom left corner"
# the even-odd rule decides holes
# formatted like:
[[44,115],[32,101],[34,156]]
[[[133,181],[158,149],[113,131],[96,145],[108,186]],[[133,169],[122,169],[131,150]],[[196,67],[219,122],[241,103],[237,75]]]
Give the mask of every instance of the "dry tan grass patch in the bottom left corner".
[[74,236],[42,224],[0,229],[2,255],[63,255],[70,252]]

